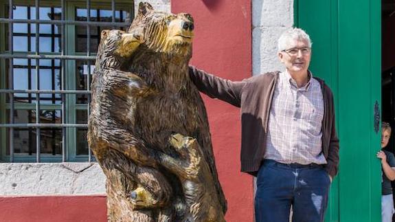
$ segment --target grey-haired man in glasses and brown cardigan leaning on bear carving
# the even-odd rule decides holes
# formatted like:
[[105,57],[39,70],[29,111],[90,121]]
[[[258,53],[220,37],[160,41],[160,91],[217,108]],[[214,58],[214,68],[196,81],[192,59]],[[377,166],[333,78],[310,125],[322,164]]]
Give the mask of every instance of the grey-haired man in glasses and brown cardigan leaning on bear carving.
[[234,82],[190,67],[199,91],[241,108],[241,170],[257,177],[256,221],[324,221],[339,166],[333,96],[308,70],[311,40],[291,28],[278,39],[284,71]]

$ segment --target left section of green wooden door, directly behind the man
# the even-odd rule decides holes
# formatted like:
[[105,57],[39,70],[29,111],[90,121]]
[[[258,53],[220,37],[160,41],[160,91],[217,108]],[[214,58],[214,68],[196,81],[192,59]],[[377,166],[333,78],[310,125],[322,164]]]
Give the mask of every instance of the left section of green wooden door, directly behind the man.
[[[332,89],[339,126],[337,10],[332,10],[336,8],[337,1],[295,1],[295,26],[302,27],[311,36],[311,70]],[[326,221],[339,221],[339,176],[332,182],[329,196]]]

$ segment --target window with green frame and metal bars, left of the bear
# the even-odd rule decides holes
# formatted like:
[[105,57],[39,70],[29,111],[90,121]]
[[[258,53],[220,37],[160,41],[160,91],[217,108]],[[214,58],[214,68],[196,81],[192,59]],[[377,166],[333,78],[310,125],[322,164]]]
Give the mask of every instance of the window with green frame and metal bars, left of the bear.
[[0,162],[94,160],[87,118],[100,32],[126,30],[131,18],[133,1],[0,0]]

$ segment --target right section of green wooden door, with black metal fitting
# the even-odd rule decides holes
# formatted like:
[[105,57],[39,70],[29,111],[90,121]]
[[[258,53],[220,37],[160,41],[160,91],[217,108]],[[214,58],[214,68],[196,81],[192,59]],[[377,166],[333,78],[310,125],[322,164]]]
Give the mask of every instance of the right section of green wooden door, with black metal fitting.
[[381,166],[375,157],[380,135],[374,132],[372,102],[381,104],[381,33],[372,32],[380,30],[380,22],[372,23],[380,17],[380,3],[350,0],[339,7],[339,121],[346,123],[340,132],[348,148],[341,152],[342,221],[381,221]]

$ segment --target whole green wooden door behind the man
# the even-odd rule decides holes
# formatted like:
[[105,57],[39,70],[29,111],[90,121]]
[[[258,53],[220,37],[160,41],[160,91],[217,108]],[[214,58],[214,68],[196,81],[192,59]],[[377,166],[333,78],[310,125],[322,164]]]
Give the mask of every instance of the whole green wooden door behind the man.
[[[295,0],[295,26],[313,41],[311,70],[335,95],[340,172],[326,221],[381,221],[381,1]],[[381,128],[379,128],[381,129]]]

